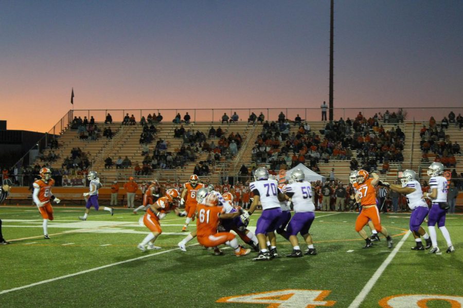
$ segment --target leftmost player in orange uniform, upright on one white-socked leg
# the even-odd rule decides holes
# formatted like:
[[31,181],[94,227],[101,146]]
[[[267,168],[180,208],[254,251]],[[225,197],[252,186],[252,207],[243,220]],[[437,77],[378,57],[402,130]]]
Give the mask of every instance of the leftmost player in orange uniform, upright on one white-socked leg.
[[43,238],[49,240],[48,236],[48,220],[53,220],[53,207],[51,206],[50,199],[56,203],[60,203],[60,199],[55,197],[51,192],[51,187],[55,184],[55,180],[51,178],[51,171],[48,168],[40,169],[41,179],[35,181],[32,186],[34,192],[32,199],[35,205],[39,208],[40,214],[43,218]]

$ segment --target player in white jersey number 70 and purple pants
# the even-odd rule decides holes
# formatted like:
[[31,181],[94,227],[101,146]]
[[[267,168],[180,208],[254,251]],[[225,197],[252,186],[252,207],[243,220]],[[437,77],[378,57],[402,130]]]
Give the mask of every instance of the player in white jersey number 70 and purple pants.
[[[278,256],[276,249],[275,229],[281,216],[280,201],[284,200],[284,195],[278,190],[278,182],[269,179],[269,171],[266,168],[257,168],[254,174],[255,181],[250,183],[250,190],[254,194],[254,200],[248,213],[241,215],[242,220],[246,220],[254,213],[259,202],[262,204],[262,215],[257,220],[256,236],[259,241],[260,252],[253,260],[270,260]],[[267,247],[265,236],[269,235],[270,252]]]

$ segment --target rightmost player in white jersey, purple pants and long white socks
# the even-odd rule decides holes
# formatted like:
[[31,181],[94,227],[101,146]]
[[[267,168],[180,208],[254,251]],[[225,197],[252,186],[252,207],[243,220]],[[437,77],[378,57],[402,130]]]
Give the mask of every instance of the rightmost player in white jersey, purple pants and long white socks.
[[433,247],[430,250],[430,254],[435,254],[440,251],[437,247],[437,234],[436,234],[436,223],[442,233],[442,236],[447,241],[447,251],[446,253],[451,253],[455,251],[455,248],[452,245],[450,240],[449,230],[446,228],[446,214],[449,209],[449,204],[447,203],[447,191],[448,183],[447,179],[442,176],[444,171],[444,166],[441,163],[434,162],[428,168],[428,176],[431,177],[429,180],[429,186],[431,187],[431,194],[429,192],[424,192],[424,198],[429,198],[432,200],[432,207],[429,211],[428,219],[428,229],[429,235],[431,236],[431,241]]

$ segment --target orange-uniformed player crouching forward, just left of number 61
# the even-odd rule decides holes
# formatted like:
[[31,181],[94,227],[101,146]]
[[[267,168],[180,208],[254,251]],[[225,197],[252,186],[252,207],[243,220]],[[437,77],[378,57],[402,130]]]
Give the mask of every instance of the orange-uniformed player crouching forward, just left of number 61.
[[[140,225],[144,224],[151,232],[138,244],[138,249],[142,252],[145,252],[147,249],[161,249],[161,247],[154,246],[154,241],[163,232],[159,220],[166,217],[166,214],[172,210],[175,211],[176,215],[180,216],[180,211],[177,209],[179,199],[179,191],[176,189],[168,189],[164,197],[157,199],[154,204],[149,205],[143,219],[140,218],[138,222]],[[143,224],[141,224],[142,222]],[[147,245],[148,247],[146,247]]]

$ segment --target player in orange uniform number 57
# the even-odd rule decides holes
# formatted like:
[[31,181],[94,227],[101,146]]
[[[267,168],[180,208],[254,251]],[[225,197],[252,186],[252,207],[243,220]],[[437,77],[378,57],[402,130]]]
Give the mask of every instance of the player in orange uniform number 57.
[[371,222],[375,226],[375,229],[382,233],[387,240],[387,247],[393,247],[393,240],[389,236],[386,228],[381,226],[381,219],[376,206],[376,189],[375,187],[380,183],[379,176],[376,173],[372,173],[372,179],[368,178],[369,174],[366,170],[359,170],[357,172],[357,182],[353,183],[353,187],[356,190],[355,199],[360,201],[362,205],[362,211],[357,220],[355,221],[355,231],[357,231],[360,236],[366,241],[364,248],[370,248],[373,243],[368,238],[363,227],[368,223],[368,220],[371,219]]

